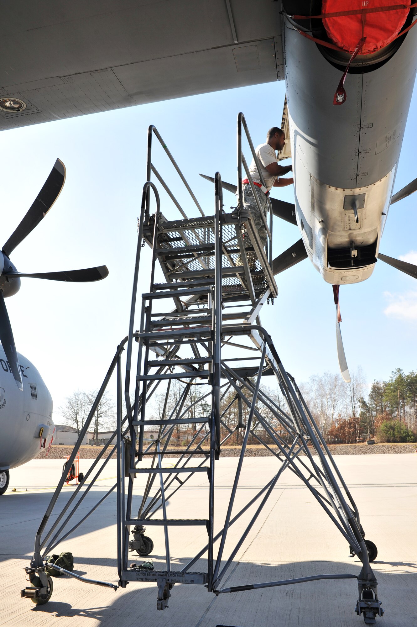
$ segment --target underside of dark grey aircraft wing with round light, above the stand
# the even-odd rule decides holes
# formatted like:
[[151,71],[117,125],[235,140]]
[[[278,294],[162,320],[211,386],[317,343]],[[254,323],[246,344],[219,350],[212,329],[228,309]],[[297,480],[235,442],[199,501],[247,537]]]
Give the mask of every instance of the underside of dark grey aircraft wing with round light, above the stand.
[[[282,80],[280,9],[270,0],[4,3],[0,130]],[[8,98],[26,107],[11,110]]]

